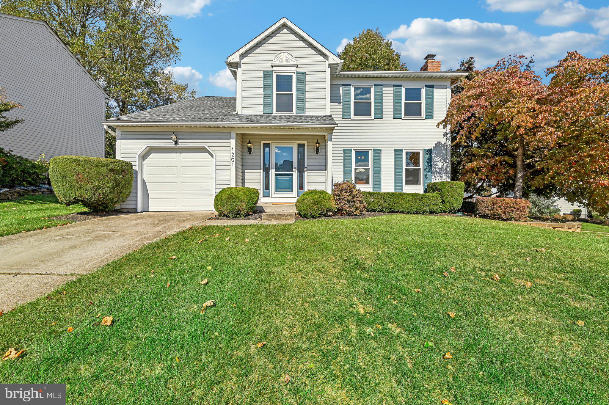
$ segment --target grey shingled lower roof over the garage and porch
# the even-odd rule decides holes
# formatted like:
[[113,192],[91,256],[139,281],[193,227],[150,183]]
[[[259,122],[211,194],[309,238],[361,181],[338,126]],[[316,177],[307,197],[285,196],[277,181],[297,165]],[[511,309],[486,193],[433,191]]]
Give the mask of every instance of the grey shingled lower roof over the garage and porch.
[[123,125],[190,125],[201,127],[314,127],[334,128],[329,115],[235,114],[235,97],[197,97],[163,105],[139,113],[111,118],[105,124]]

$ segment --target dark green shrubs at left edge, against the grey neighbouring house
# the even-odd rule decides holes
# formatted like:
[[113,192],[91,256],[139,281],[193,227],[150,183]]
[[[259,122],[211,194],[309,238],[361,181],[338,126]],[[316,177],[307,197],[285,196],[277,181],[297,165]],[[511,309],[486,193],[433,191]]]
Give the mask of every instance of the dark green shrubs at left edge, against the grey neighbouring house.
[[0,147],[0,188],[46,184],[44,159],[29,160]]

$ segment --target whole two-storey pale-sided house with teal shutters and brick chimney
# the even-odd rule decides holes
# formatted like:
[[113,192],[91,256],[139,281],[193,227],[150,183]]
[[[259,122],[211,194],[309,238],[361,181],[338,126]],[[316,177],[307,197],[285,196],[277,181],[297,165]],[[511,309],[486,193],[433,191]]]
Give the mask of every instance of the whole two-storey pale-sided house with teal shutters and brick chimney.
[[354,180],[362,190],[423,192],[450,179],[436,128],[467,72],[343,71],[342,60],[282,18],[231,54],[236,97],[199,97],[110,119],[133,163],[125,211],[213,210],[229,186],[260,202]]

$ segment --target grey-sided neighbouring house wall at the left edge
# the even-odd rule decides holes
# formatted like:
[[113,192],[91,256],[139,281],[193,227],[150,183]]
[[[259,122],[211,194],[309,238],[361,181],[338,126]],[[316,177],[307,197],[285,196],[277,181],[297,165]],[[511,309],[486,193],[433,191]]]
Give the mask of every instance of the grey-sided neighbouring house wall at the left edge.
[[0,13],[0,87],[24,121],[0,132],[0,147],[104,157],[107,94],[44,21]]

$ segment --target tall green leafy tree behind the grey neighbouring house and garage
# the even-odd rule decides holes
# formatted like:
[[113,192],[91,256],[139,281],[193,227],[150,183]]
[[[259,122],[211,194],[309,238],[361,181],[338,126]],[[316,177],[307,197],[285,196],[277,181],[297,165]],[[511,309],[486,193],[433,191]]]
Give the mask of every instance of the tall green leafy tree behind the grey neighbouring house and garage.
[[[169,68],[181,54],[155,0],[3,0],[2,12],[43,19],[110,95],[107,118],[195,96]],[[107,156],[116,139],[107,134]]]

